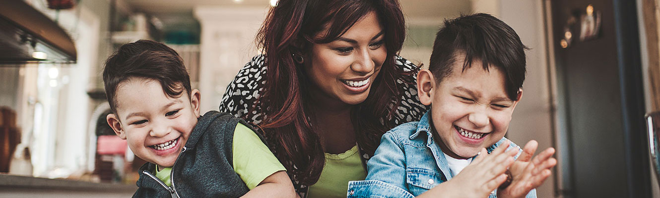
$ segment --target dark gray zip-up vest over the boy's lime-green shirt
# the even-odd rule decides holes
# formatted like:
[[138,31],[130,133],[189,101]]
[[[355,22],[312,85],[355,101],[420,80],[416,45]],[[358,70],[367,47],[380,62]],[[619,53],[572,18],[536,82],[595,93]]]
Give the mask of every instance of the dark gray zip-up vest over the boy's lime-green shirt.
[[209,111],[199,117],[172,166],[172,186],[156,178],[155,165],[147,162],[139,170],[139,189],[133,197],[240,197],[248,193],[248,186],[232,167],[232,142],[238,122],[250,126],[224,112]]

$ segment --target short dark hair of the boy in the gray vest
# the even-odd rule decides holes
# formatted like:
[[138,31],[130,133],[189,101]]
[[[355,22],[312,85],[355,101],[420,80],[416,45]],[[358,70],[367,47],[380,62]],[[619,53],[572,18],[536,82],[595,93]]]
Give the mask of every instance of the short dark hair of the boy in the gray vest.
[[110,109],[115,114],[117,86],[131,77],[160,82],[163,92],[169,97],[178,97],[183,91],[190,94],[191,91],[190,76],[179,54],[156,41],[139,40],[121,45],[108,57],[103,69],[103,82]]

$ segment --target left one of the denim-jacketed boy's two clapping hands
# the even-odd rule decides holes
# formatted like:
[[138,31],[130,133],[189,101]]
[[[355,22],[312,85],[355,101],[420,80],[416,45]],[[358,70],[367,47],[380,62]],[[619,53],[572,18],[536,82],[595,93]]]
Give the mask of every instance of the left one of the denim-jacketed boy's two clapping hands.
[[446,182],[451,184],[449,189],[459,197],[488,197],[490,192],[506,181],[504,172],[513,164],[513,156],[518,153],[517,149],[506,151],[509,145],[509,141],[502,143],[490,155],[482,148],[465,169]]

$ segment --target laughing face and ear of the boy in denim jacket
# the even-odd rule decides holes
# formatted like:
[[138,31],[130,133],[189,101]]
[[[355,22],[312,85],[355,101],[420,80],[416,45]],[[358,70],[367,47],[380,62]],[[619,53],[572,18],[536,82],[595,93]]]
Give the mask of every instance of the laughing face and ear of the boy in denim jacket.
[[[457,57],[456,60],[463,60]],[[429,70],[418,75],[418,94],[431,105],[432,126],[442,151],[456,159],[474,157],[506,134],[517,101],[507,97],[504,72],[495,66],[486,71],[480,61],[463,72],[455,61],[452,72],[438,84]],[[438,141],[440,140],[440,141]]]

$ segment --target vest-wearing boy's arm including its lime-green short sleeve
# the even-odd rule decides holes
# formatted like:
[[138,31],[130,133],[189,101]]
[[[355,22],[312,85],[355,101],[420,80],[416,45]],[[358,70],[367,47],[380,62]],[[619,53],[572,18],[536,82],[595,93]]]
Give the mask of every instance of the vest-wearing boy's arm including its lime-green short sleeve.
[[286,169],[257,134],[239,123],[233,142],[234,172],[250,189],[243,197],[296,197]]

